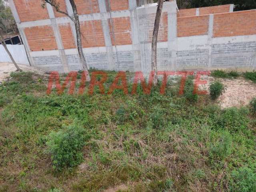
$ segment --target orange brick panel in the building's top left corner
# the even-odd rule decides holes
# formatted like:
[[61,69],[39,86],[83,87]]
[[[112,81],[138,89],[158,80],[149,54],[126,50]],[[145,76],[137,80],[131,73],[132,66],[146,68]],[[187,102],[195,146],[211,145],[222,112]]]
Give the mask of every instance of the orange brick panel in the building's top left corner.
[[42,8],[41,0],[14,0],[21,22],[47,19],[47,8]]

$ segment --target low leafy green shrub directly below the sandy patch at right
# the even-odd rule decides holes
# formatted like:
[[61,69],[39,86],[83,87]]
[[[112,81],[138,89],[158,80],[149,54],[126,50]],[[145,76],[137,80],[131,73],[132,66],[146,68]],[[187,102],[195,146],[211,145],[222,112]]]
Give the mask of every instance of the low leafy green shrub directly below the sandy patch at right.
[[248,127],[248,110],[246,108],[228,108],[221,112],[216,120],[219,128],[228,129],[231,132],[244,131]]

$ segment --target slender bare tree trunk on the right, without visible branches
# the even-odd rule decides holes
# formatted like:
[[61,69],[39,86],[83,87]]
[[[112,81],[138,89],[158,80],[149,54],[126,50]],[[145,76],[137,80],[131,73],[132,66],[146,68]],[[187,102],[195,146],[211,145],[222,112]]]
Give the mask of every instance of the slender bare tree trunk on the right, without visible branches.
[[164,0],[158,0],[158,6],[156,10],[156,19],[154,24],[153,36],[152,36],[152,53],[151,53],[151,69],[154,72],[153,84],[157,85],[157,63],[156,63],[156,46],[157,46],[157,36],[160,24],[160,18],[162,14]]

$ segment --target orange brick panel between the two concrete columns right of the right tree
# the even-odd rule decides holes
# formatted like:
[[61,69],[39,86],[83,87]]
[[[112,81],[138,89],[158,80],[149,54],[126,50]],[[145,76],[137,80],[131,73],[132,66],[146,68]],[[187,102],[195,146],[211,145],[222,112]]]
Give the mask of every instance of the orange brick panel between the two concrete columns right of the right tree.
[[206,35],[209,15],[177,18],[178,37]]

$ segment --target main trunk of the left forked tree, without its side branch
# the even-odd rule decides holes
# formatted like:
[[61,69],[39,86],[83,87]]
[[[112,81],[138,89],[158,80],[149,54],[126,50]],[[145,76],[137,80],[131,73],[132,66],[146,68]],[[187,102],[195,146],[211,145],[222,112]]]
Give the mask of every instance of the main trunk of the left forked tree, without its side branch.
[[[86,60],[84,58],[84,53],[83,53],[83,49],[82,49],[82,38],[81,38],[81,31],[80,31],[80,22],[79,22],[77,9],[76,9],[76,4],[75,4],[74,0],[69,0],[69,1],[70,1],[70,4],[71,4],[73,12],[74,12],[74,23],[75,23],[75,27],[76,27],[76,39],[77,39],[78,55],[79,55],[79,58],[80,58],[80,62],[82,63],[83,69],[86,72],[88,72],[88,66],[86,64]],[[86,80],[90,81],[89,72],[88,72]]]

